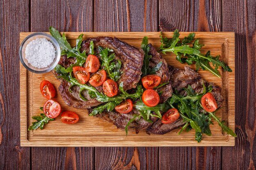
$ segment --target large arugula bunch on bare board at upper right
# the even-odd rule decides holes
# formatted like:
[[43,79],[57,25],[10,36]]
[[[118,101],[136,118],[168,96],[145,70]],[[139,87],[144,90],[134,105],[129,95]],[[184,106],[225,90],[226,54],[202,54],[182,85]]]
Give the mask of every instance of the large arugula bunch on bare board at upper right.
[[[180,42],[179,39],[179,31],[176,29],[173,33],[173,38],[163,38],[162,33],[160,34],[160,42],[162,42],[160,46],[160,51],[162,53],[166,52],[172,52],[176,55],[176,60],[178,60],[181,63],[187,63],[191,65],[193,62],[195,62],[196,65],[196,71],[199,70],[199,68],[202,68],[202,70],[208,70],[213,75],[216,75],[220,78],[220,73],[218,72],[219,66],[221,66],[225,71],[231,72],[232,70],[227,66],[224,62],[219,60],[220,55],[217,55],[216,57],[213,57],[210,55],[210,51],[208,51],[205,55],[203,55],[200,52],[200,49],[204,44],[199,44],[199,40],[196,39],[193,42],[193,47],[189,47],[188,43],[192,42],[195,37],[195,33],[190,33],[188,37],[185,37],[182,42]],[[183,55],[183,56],[182,56]],[[209,63],[212,63],[215,67],[214,69],[211,68]]]

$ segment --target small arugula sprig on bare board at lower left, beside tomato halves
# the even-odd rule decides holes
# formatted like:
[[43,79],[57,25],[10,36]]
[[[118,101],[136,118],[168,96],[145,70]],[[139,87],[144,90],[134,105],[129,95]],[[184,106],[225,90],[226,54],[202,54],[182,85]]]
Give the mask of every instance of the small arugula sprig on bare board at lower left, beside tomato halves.
[[32,122],[32,125],[29,126],[28,130],[36,130],[37,128],[43,129],[43,126],[48,124],[49,121],[54,119],[46,117],[45,114],[41,113],[39,116],[32,116],[32,119],[36,120]]

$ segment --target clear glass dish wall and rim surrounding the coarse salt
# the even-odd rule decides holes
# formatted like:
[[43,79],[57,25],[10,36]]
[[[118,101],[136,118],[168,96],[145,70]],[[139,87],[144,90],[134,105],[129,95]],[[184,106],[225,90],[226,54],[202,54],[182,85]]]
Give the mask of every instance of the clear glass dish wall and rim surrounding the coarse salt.
[[[55,51],[56,51],[55,52],[56,56],[54,58],[54,61],[52,62],[52,64],[50,64],[49,66],[47,66],[45,68],[34,67],[31,64],[29,64],[27,62],[27,59],[25,58],[25,50],[26,50],[27,44],[29,42],[31,42],[32,40],[35,40],[36,38],[46,38],[49,42],[51,42],[53,44]],[[52,71],[54,69],[54,67],[57,66],[60,58],[61,58],[61,48],[60,48],[58,42],[51,35],[49,35],[47,33],[32,33],[29,36],[27,36],[22,41],[22,43],[20,45],[20,62],[28,71],[31,71],[33,73],[48,73],[48,72]]]

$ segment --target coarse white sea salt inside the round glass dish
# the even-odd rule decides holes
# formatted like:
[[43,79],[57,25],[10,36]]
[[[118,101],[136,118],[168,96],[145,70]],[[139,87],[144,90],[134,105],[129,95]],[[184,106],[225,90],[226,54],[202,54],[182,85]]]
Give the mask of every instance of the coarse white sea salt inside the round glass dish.
[[55,58],[55,48],[46,38],[36,38],[27,44],[25,58],[36,68],[45,68],[52,64]]

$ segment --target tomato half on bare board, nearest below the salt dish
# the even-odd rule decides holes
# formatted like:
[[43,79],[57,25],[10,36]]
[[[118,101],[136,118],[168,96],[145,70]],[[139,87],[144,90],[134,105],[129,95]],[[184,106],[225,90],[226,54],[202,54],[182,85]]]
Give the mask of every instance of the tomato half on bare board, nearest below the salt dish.
[[43,80],[40,83],[40,91],[46,99],[52,99],[56,94],[55,87],[47,80]]

